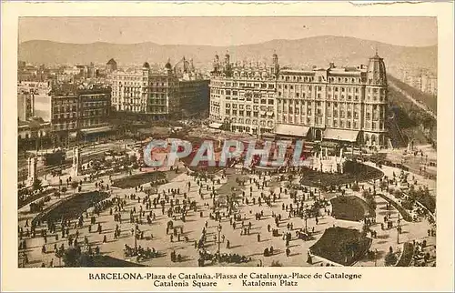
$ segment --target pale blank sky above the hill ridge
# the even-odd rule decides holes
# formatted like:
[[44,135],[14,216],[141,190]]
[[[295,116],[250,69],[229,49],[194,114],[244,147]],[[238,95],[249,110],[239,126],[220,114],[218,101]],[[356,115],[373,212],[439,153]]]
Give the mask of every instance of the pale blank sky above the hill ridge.
[[19,42],[246,45],[317,35],[437,45],[436,17],[21,17]]

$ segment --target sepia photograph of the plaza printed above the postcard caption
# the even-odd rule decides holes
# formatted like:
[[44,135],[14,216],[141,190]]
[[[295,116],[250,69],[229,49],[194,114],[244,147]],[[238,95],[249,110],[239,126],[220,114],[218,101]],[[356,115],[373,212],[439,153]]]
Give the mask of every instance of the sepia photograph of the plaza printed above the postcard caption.
[[437,267],[436,17],[17,33],[19,268]]

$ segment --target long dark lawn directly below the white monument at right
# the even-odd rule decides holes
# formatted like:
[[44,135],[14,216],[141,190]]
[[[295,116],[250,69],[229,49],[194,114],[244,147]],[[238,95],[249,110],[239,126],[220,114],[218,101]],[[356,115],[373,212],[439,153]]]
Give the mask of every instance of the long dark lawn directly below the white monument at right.
[[300,183],[307,187],[329,187],[368,181],[383,176],[382,171],[357,162],[348,161],[344,167],[345,173],[322,173],[309,168],[303,169]]

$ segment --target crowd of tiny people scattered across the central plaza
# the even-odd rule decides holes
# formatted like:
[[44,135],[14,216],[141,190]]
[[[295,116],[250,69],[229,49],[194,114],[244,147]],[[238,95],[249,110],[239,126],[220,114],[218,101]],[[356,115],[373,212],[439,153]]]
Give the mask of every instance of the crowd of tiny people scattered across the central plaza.
[[[181,173],[184,183],[179,187],[167,187],[166,179],[156,179],[127,192],[116,190],[108,199],[96,203],[91,212],[87,211],[76,218],[62,218],[46,223],[38,221],[32,224],[30,231],[27,220],[25,227],[19,227],[20,248],[25,250],[27,238],[35,237],[36,232],[44,239],[43,253],[49,250],[49,245],[56,246],[61,243],[62,247],[63,238],[66,239],[68,247],[78,247],[83,242],[84,246],[91,248],[96,243],[95,240],[89,241],[93,233],[102,235],[103,244],[123,241],[123,238],[130,241],[128,239],[131,237],[154,241],[157,238],[154,234],[163,234],[166,237],[161,241],[168,239],[170,244],[194,246],[198,252],[199,266],[204,266],[207,260],[227,263],[250,261],[251,256],[232,252],[231,241],[235,242],[238,238],[227,238],[228,223],[231,228],[229,235],[235,233],[238,237],[252,237],[260,245],[268,236],[277,239],[280,237],[283,248],[281,250],[285,251],[287,257],[291,257],[291,242],[312,239],[315,233],[319,232],[319,219],[331,215],[330,203],[320,196],[318,188],[281,184],[289,178],[295,178],[295,181],[299,182],[298,176],[302,170],[297,167],[267,171],[257,167],[239,170],[231,168],[220,169],[217,175],[200,170],[187,170],[186,173]],[[178,169],[169,170],[177,171]],[[97,189],[109,189],[112,183],[109,176],[108,179],[105,177],[96,180],[94,186]],[[230,187],[230,192],[218,191],[224,185]],[[79,187],[82,186],[81,182]],[[148,186],[156,188],[147,188]],[[116,225],[114,229],[103,228],[100,218],[106,216],[106,210]],[[189,217],[198,217],[197,221],[202,224],[197,237],[192,237],[190,232],[193,231],[186,229]],[[311,223],[315,223],[310,227],[307,225],[309,219],[312,219]],[[162,225],[154,225],[157,222]],[[263,222],[267,225],[263,225]],[[131,226],[133,227],[129,229]],[[263,226],[267,226],[267,233],[255,231]],[[376,237],[375,234],[376,232],[372,231],[371,237]],[[49,236],[55,237],[55,240],[48,242]],[[59,236],[62,239],[59,239]],[[79,237],[82,236],[84,240],[81,241]],[[99,247],[97,249],[99,250]],[[279,250],[269,245],[263,249],[263,257],[274,256]],[[137,257],[138,261],[158,257],[155,248],[142,248],[140,245],[130,248],[125,244],[124,252],[125,256]],[[172,262],[180,262],[186,256],[183,252],[172,250],[170,258]]]

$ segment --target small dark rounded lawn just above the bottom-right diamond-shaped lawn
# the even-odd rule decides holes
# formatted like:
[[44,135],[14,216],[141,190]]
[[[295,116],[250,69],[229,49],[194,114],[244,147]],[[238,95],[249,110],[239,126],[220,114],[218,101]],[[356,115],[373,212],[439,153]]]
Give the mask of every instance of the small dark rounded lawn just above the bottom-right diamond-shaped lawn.
[[[359,197],[334,197],[330,199],[332,204],[332,217],[358,222],[371,211],[367,203]],[[374,210],[372,211],[374,214]],[[370,215],[374,217],[374,215]]]

